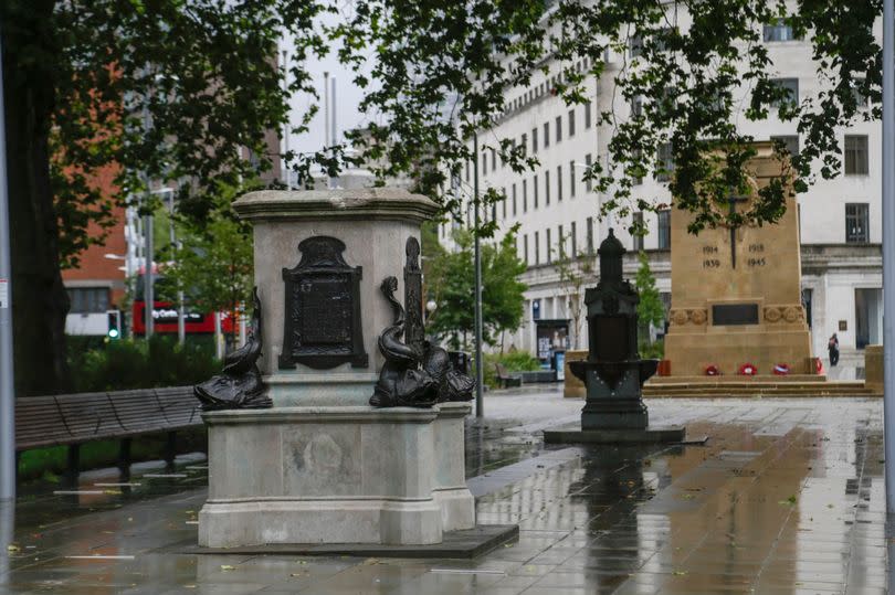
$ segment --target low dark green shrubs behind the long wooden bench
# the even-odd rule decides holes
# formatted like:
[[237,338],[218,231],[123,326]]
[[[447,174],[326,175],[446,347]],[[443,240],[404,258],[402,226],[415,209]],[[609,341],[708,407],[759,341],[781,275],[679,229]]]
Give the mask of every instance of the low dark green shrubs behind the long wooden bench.
[[71,392],[123,391],[182,386],[220,372],[213,351],[202,346],[179,346],[171,337],[149,341],[109,341],[105,349],[70,352]]

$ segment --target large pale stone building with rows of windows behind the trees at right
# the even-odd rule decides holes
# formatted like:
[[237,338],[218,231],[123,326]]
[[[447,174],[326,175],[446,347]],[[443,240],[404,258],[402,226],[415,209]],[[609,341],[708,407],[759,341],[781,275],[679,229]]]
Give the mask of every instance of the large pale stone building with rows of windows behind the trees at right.
[[[686,28],[685,14],[675,13],[675,24]],[[819,83],[810,42],[793,39],[792,31],[785,25],[766,26],[764,33],[776,68],[773,77],[792,88],[799,99],[812,96]],[[881,32],[877,35],[882,39]],[[613,93],[613,78],[625,56],[608,52],[604,59],[603,76],[587,83],[590,103],[566,105],[556,96],[552,88],[560,68],[550,64],[549,74],[536,72],[528,87],[507,94],[507,109],[497,126],[480,136],[480,145],[495,144],[498,138],[514,139],[540,160],[535,171],[523,174],[503,166],[499,156],[489,150],[478,161],[481,188],[495,188],[506,195],[485,216],[495,217],[503,230],[519,224],[518,255],[528,264],[523,279],[529,287],[525,322],[514,337],[504,339],[505,347],[515,346],[544,355],[548,343],[564,342],[561,326],[568,321],[569,347],[587,348],[586,332],[580,328],[583,320],[579,320],[576,329],[570,315],[569,294],[575,291],[561,281],[555,266],[560,238],[566,242],[566,253],[588,253],[596,251],[609,227],[614,227],[630,251],[625,275],[633,278],[636,253],[645,251],[668,306],[668,211],[635,213],[634,217],[643,217],[649,234],[632,237],[626,232],[630,217],[599,220],[599,206],[606,196],[582,180],[585,166],[607,159],[611,130],[597,126],[598,114],[611,109],[623,118],[632,108]],[[583,71],[589,64],[582,60],[576,67]],[[737,93],[745,97],[748,89],[735,92],[735,104]],[[780,138],[792,150],[800,146],[797,124],[780,121],[776,114],[759,123],[740,121],[743,131],[758,140]],[[840,130],[840,135],[846,152],[842,176],[818,181],[807,193],[799,194],[798,206],[802,301],[812,331],[812,348],[814,354],[826,358],[826,340],[836,332],[842,352],[836,375],[849,378],[863,366],[864,347],[880,342],[882,336],[882,125],[859,123]],[[474,167],[468,164],[460,180],[470,193]],[[667,183],[652,177],[635,187],[634,196],[656,204],[667,204],[671,199]],[[456,223],[442,225],[440,230],[443,243],[450,243],[451,225]]]

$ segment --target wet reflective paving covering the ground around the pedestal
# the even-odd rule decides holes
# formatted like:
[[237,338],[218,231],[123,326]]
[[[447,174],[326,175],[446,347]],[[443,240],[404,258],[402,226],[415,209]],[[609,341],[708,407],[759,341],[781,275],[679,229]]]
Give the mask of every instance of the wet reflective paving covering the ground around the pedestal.
[[502,391],[468,421],[478,522],[520,528],[475,560],[180,553],[207,493],[188,458],[0,509],[0,593],[887,592],[881,400],[651,400],[651,419],[708,440],[545,446],[581,404]]

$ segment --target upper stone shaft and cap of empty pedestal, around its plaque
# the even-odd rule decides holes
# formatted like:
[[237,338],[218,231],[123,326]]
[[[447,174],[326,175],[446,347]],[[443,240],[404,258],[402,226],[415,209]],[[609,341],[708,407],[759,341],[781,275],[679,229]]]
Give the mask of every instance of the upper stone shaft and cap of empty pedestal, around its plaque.
[[[233,203],[254,229],[254,268],[264,311],[261,371],[276,406],[367,405],[383,359],[377,339],[392,322],[379,285],[401,276],[409,237],[420,237],[420,224],[438,206],[420,194],[400,189],[261,191]],[[361,267],[360,332],[366,365],[341,363],[313,368],[281,366],[286,296],[283,270],[295,267],[298,245],[313,236],[337,238],[350,267]],[[325,315],[324,315],[325,316]]]

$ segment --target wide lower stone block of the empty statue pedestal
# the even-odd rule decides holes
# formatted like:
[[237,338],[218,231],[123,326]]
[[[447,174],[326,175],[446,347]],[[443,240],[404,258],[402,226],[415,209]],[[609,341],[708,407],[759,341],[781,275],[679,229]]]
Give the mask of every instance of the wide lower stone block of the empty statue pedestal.
[[463,472],[470,405],[203,414],[199,545],[440,543],[475,525]]

